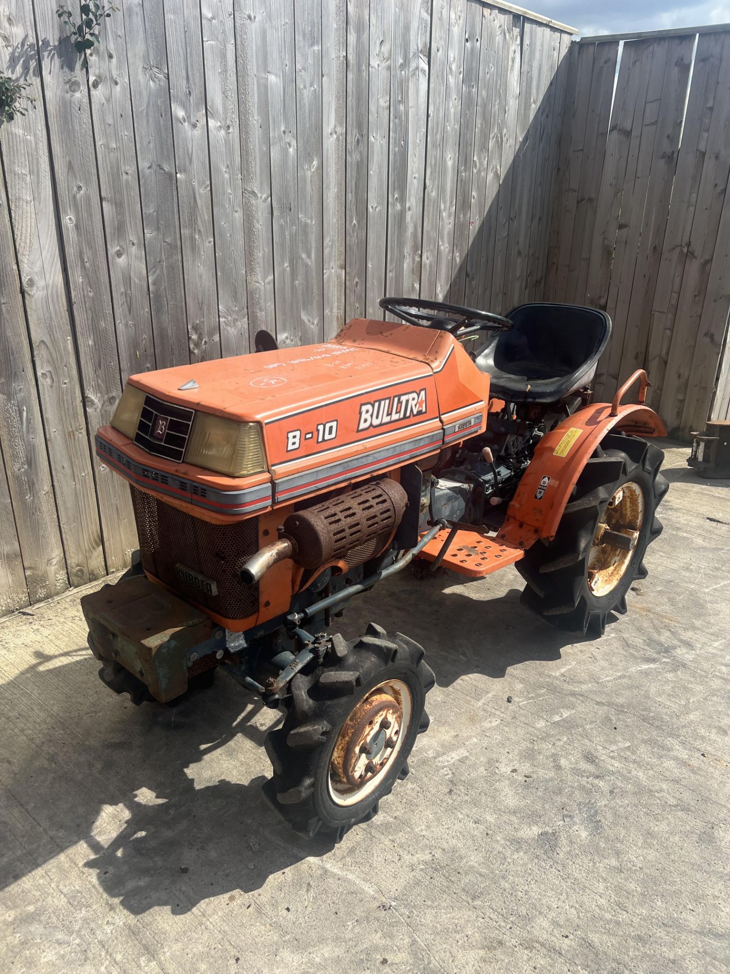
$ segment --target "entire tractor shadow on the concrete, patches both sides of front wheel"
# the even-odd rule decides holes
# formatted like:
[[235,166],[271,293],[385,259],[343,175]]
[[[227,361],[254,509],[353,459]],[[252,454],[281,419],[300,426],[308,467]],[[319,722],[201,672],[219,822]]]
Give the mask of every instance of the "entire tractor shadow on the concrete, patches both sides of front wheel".
[[[521,606],[516,588],[491,598],[484,582],[407,572],[383,588],[354,600],[332,629],[355,636],[372,619],[405,632],[424,646],[441,687],[559,659],[574,641]],[[263,797],[264,739],[279,718],[258,697],[219,674],[212,689],[174,708],[134,707],[102,687],[97,669],[81,645],[38,652],[0,686],[0,714],[11,724],[18,700],[47,703],[32,744],[30,735],[9,738],[9,791],[40,831],[32,856],[13,843],[0,850],[0,887],[81,844],[83,866],[134,916],[155,907],[183,915],[226,896],[243,922],[246,894],[333,850],[329,838],[297,837]]]

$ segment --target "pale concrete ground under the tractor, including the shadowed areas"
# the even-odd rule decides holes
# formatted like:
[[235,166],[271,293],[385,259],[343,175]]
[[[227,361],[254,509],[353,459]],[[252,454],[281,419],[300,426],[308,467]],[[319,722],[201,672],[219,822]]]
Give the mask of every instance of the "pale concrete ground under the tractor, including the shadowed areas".
[[335,847],[270,812],[275,714],[225,676],[137,708],[78,591],[4,620],[0,969],[730,969],[730,481],[686,456],[602,640],[529,615],[512,568],[348,610],[347,636],[420,641],[437,686],[410,777]]

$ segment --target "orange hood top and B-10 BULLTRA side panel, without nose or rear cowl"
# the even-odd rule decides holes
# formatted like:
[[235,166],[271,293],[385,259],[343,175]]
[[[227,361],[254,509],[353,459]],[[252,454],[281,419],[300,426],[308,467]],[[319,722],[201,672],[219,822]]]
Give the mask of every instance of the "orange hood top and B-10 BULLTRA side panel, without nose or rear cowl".
[[329,342],[129,381],[163,402],[259,423],[276,501],[408,463],[444,440],[431,365],[383,349]]

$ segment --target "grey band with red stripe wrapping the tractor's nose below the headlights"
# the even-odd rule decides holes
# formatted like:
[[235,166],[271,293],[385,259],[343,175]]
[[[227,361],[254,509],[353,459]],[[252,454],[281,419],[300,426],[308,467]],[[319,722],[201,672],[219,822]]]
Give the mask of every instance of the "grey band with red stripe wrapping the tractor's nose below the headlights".
[[[137,464],[98,434],[95,439],[96,449],[104,459],[108,459],[116,467],[123,468],[139,482],[140,486],[154,490],[156,493],[176,497],[180,501],[187,501],[188,504],[205,507],[208,510],[217,510],[221,514],[252,513],[272,504],[271,483],[246,487],[243,490],[221,491],[174,473]],[[181,493],[188,496],[180,497]],[[229,509],[221,510],[218,505],[225,505]]]

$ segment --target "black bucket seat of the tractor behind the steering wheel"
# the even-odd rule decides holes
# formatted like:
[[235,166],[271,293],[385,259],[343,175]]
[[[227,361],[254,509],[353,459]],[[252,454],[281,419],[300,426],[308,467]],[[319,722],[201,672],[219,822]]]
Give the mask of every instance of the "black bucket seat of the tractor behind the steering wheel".
[[476,359],[493,395],[510,402],[557,402],[587,386],[611,334],[595,308],[534,302],[514,308],[510,331],[497,332]]

